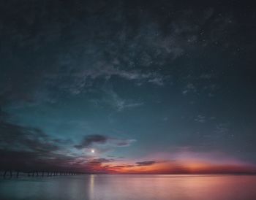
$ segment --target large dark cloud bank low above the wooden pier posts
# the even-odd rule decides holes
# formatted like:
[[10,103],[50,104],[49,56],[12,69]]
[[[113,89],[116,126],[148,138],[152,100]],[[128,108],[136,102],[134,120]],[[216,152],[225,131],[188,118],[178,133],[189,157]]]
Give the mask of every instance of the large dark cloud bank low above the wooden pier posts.
[[39,128],[20,126],[0,115],[0,169],[76,169],[78,157],[65,155],[68,140],[56,139]]

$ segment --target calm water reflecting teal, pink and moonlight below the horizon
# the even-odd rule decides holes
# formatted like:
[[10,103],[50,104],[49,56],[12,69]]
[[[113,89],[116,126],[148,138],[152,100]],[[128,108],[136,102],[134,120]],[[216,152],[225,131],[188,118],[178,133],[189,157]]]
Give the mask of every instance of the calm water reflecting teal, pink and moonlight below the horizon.
[[256,176],[83,175],[0,180],[0,199],[255,200]]

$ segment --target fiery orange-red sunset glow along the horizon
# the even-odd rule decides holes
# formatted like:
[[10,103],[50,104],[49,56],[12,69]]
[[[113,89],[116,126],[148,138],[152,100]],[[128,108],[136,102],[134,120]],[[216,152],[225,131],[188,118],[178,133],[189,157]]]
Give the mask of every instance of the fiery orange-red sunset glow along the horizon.
[[102,164],[93,168],[109,174],[228,174],[228,173],[256,173],[256,166],[210,164],[203,161],[165,161],[148,166],[132,166],[117,163]]

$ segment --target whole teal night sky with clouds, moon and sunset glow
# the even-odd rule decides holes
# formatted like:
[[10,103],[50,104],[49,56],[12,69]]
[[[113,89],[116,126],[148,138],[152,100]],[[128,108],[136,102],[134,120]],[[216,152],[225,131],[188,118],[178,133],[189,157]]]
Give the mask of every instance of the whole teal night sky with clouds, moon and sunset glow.
[[0,168],[256,172],[245,2],[1,1]]

